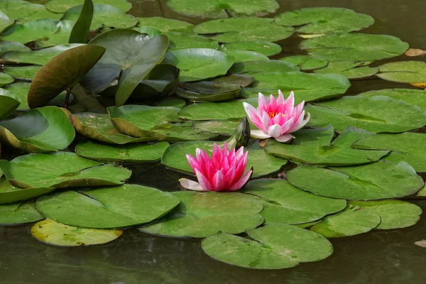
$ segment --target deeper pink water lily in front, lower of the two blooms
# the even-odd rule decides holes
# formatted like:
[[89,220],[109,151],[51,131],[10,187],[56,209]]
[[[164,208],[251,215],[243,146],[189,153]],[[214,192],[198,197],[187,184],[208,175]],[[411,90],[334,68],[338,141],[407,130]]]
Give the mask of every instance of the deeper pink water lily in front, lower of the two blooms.
[[204,150],[197,148],[195,157],[189,154],[186,157],[198,182],[181,178],[180,185],[188,190],[198,191],[239,190],[253,172],[250,169],[244,173],[248,154],[248,151],[244,153],[244,147],[238,151],[235,148],[229,151],[226,142],[222,150],[214,143],[212,158]]

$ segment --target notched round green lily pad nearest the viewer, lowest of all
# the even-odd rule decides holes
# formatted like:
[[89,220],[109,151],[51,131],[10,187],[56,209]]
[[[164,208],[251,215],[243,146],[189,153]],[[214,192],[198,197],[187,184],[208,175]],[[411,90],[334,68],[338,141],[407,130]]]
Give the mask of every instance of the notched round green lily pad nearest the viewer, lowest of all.
[[234,266],[282,269],[321,261],[333,247],[323,236],[285,224],[271,224],[247,231],[250,239],[231,234],[209,236],[201,243],[211,258]]

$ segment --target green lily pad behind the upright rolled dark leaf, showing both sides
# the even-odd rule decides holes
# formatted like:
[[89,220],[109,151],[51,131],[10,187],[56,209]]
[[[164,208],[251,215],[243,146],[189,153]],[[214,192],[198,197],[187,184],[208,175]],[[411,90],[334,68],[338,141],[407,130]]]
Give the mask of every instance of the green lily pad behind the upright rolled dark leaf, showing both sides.
[[[82,5],[73,6],[65,11],[62,21],[77,21],[82,11]],[[132,28],[138,23],[138,18],[124,13],[119,8],[107,4],[94,4],[93,18],[90,30],[99,28]]]

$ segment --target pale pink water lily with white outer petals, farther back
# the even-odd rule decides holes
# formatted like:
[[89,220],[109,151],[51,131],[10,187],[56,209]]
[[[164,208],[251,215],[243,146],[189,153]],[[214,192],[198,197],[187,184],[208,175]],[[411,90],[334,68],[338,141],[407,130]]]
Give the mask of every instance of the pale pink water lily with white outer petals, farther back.
[[279,142],[287,142],[295,136],[291,135],[301,129],[310,119],[310,114],[305,116],[303,106],[305,101],[295,106],[295,94],[290,92],[290,96],[284,99],[283,93],[278,90],[278,99],[273,95],[266,99],[259,93],[258,107],[255,109],[246,102],[244,109],[251,122],[260,130],[252,130],[250,136],[253,138],[275,138]]

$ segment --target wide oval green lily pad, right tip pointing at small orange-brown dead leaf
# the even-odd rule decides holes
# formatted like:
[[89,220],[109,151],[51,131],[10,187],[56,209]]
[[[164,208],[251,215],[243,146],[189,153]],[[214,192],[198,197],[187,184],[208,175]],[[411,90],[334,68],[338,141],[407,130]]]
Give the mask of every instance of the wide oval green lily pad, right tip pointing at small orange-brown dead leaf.
[[341,33],[303,40],[300,48],[329,61],[371,61],[401,55],[408,43],[391,35]]

